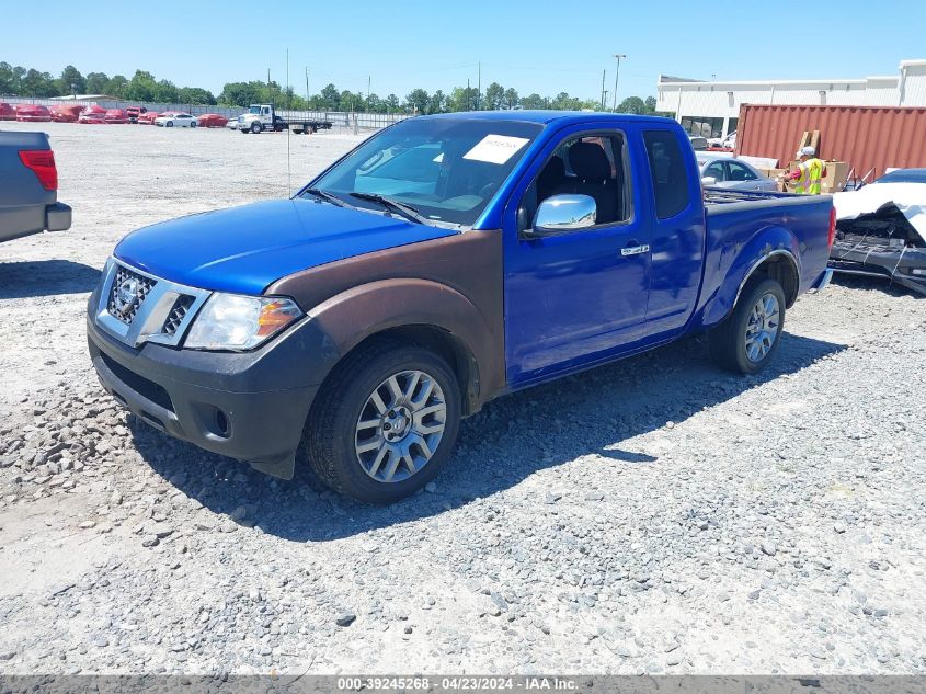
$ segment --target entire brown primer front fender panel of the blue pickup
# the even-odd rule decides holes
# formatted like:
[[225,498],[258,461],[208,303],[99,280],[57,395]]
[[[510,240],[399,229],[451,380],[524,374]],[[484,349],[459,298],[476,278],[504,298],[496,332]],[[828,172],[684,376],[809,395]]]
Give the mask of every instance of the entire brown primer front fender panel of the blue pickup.
[[342,356],[389,328],[449,332],[476,362],[476,397],[468,384],[475,411],[505,388],[502,286],[502,232],[494,229],[345,258],[281,277],[264,293],[295,298]]

